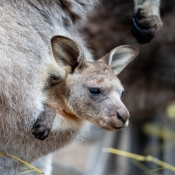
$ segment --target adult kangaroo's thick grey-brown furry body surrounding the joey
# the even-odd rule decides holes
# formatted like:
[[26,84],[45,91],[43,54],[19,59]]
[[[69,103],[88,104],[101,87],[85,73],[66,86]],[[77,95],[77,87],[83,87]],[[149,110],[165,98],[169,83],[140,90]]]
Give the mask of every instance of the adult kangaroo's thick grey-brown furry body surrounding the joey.
[[[35,159],[33,164],[46,174],[51,170],[50,155],[42,161],[36,158],[63,147],[76,134],[69,131],[63,138],[59,131],[56,137],[43,142],[31,134],[47,99],[43,87],[48,65],[54,59],[50,39],[54,35],[67,36],[92,60],[76,27],[96,4],[95,0],[0,1],[0,150],[27,162]],[[39,153],[37,157],[33,150]],[[21,164],[8,156],[0,158],[0,173],[19,174],[20,168]]]

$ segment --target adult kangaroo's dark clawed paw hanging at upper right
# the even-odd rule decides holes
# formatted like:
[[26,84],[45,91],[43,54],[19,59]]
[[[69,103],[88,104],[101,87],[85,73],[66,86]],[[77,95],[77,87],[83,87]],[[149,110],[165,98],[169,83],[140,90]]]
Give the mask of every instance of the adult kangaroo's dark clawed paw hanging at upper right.
[[150,42],[162,26],[158,16],[147,17],[146,11],[138,9],[132,21],[132,34],[140,44]]

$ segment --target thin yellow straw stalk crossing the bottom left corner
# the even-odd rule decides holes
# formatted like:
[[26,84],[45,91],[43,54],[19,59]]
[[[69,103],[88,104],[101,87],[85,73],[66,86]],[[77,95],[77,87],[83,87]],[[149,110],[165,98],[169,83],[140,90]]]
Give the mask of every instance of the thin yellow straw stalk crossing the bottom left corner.
[[[26,165],[30,170],[33,170],[33,171],[37,172],[38,174],[44,174],[44,173],[43,173],[41,170],[39,170],[38,168],[34,167],[33,165],[31,165],[31,164],[25,162],[24,160],[22,160],[22,159],[20,159],[20,158],[18,158],[18,157],[16,157],[16,156],[14,156],[14,155],[12,155],[12,154],[7,154],[7,153],[4,152],[4,151],[0,151],[0,157],[1,157],[1,156],[8,156],[8,157],[10,157],[10,158],[13,158],[13,159],[19,161],[20,163]],[[24,173],[25,173],[25,171],[24,171]],[[45,174],[44,174],[44,175],[45,175]]]

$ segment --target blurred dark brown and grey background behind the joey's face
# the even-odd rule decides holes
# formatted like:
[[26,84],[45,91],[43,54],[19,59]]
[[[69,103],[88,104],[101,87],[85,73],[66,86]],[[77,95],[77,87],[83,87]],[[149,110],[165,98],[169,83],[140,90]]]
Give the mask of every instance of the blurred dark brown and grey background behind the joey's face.
[[119,45],[139,49],[119,75],[130,125],[120,132],[93,126],[87,139],[55,154],[53,175],[175,175],[154,163],[102,151],[112,147],[175,165],[175,1],[162,0],[163,28],[144,45],[131,34],[133,7],[132,0],[102,0],[80,28],[97,59]]

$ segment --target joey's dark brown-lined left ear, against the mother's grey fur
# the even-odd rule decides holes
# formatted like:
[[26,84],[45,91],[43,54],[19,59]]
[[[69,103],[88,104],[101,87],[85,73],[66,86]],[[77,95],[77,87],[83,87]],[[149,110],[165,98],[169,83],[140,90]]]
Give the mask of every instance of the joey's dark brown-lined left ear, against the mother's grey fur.
[[51,39],[53,55],[59,66],[70,66],[72,72],[78,66],[83,67],[85,58],[81,47],[72,39],[54,36]]

